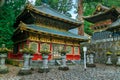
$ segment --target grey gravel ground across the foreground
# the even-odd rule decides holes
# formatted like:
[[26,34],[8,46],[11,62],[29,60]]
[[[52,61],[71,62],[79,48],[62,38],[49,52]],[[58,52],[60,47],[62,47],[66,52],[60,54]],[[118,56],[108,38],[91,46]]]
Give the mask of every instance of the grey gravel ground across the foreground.
[[58,66],[52,66],[48,73],[38,73],[37,69],[31,75],[17,76],[19,67],[8,65],[9,73],[0,74],[0,80],[120,80],[120,67],[97,64],[95,68],[83,65],[70,65],[70,70],[60,71]]

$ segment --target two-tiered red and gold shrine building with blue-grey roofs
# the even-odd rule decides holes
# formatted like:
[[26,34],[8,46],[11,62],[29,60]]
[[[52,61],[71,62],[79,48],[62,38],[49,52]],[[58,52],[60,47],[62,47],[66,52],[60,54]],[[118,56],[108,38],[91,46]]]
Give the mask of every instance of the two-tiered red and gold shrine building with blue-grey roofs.
[[27,4],[16,18],[12,37],[14,55],[9,56],[22,57],[20,49],[29,45],[35,51],[33,60],[41,60],[40,49],[47,43],[51,51],[49,60],[60,58],[59,49],[62,47],[69,51],[67,60],[80,60],[80,43],[88,41],[88,38],[69,30],[80,27],[81,24],[83,23],[55,11],[47,4],[41,6]]

